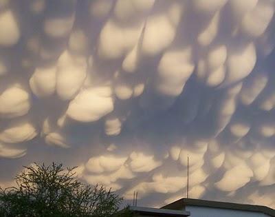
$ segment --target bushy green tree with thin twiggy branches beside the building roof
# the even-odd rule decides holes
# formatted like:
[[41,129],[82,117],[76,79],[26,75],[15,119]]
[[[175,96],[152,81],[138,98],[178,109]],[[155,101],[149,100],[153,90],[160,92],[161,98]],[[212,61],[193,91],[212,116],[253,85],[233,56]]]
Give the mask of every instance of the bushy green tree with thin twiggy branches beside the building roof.
[[78,181],[76,167],[34,163],[24,168],[15,177],[17,187],[0,187],[0,216],[131,216],[129,209],[118,212],[122,198],[111,189]]

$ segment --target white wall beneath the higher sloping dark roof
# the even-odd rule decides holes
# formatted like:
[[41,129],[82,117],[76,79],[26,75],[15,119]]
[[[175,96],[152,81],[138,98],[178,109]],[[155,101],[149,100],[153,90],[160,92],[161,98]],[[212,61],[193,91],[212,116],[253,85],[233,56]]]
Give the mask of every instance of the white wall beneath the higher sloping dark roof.
[[210,207],[186,206],[186,211],[190,211],[190,217],[270,217],[254,211],[241,211],[232,209],[219,209]]

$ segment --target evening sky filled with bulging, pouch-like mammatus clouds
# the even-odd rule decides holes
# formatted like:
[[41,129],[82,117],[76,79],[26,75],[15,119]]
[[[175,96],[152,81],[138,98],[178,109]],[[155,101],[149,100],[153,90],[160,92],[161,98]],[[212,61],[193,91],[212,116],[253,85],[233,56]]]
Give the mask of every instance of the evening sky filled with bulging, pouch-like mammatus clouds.
[[275,208],[274,0],[0,0],[0,185],[33,162],[160,207]]

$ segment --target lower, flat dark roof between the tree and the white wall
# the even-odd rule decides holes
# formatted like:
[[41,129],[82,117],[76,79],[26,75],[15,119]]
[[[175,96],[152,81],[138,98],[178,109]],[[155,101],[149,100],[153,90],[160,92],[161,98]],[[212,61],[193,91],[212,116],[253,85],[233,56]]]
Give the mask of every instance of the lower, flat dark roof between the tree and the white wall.
[[171,210],[171,209],[156,209],[148,207],[129,207],[132,211],[144,216],[173,216],[173,217],[186,217],[190,216],[189,211],[184,210]]

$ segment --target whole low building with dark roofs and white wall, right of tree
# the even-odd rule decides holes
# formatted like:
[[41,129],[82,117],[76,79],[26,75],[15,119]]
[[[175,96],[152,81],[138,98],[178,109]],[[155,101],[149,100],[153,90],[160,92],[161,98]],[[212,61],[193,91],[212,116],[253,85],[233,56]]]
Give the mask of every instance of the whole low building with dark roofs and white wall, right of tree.
[[160,209],[147,207],[130,207],[130,209],[136,216],[154,217],[275,217],[275,209],[270,207],[190,198],[181,198]]

